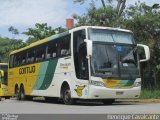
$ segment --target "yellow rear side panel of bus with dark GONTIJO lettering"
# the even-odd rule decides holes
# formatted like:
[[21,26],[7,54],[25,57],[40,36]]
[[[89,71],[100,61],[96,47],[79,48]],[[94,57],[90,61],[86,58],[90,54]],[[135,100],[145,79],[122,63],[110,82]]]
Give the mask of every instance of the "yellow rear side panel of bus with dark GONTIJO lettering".
[[15,95],[15,86],[24,86],[25,94],[30,95],[38,76],[40,64],[31,64],[9,69],[9,93]]

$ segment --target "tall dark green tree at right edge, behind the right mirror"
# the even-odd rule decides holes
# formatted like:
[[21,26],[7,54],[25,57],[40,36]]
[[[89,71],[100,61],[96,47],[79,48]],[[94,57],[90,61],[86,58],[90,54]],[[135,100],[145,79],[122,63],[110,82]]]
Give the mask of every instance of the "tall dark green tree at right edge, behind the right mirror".
[[135,39],[139,43],[147,44],[150,47],[151,59],[143,63],[143,86],[145,88],[156,89],[160,87],[158,78],[160,77],[160,15],[152,13],[152,7],[145,3],[136,2],[126,10],[127,18],[124,25],[135,34]]

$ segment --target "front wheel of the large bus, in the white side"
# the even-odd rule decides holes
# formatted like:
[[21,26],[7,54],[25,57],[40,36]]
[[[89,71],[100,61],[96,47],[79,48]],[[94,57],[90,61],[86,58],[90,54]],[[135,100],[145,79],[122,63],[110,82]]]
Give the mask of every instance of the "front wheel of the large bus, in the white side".
[[71,90],[68,86],[65,86],[63,89],[63,102],[66,105],[72,105],[75,103],[75,100],[71,98]]

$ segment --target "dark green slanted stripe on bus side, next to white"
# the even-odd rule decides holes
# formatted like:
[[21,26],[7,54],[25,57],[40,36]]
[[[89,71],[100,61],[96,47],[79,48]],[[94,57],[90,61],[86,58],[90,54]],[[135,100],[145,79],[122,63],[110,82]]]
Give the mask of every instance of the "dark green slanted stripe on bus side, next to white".
[[53,76],[54,76],[54,73],[55,73],[57,62],[58,62],[58,59],[52,59],[52,60],[49,61],[48,67],[47,67],[47,70],[46,70],[46,74],[45,74],[45,77],[44,77],[44,81],[43,81],[41,87],[39,88],[39,90],[45,90],[50,86],[50,84],[53,80]]

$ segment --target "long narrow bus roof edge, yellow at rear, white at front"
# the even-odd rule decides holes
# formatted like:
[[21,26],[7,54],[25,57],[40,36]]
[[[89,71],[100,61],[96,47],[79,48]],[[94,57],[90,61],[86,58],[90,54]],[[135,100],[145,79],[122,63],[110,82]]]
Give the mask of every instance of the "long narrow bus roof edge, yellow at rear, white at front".
[[70,32],[74,32],[74,31],[78,31],[78,30],[82,30],[82,29],[88,29],[88,28],[107,29],[107,30],[115,30],[115,31],[130,32],[130,33],[132,32],[132,31],[126,30],[126,29],[112,28],[112,27],[100,27],[100,26],[81,26],[81,27],[75,27],[75,28],[73,28],[73,29],[71,29],[71,30],[68,30],[68,31],[66,31],[66,32],[52,35],[52,36],[50,36],[50,37],[48,37],[48,38],[45,38],[45,39],[39,40],[39,41],[37,41],[37,42],[34,42],[34,43],[32,43],[32,44],[30,44],[30,45],[28,45],[28,46],[26,46],[26,47],[20,48],[20,49],[18,49],[18,50],[14,50],[14,51],[12,51],[12,52],[10,53],[10,55],[11,55],[11,54],[15,54],[15,53],[17,53],[17,52],[21,52],[21,51],[23,51],[23,50],[27,50],[27,49],[29,49],[29,48],[32,48],[32,47],[34,47],[34,46],[37,46],[37,45],[40,45],[40,44],[43,44],[43,43],[46,43],[46,42],[51,41],[51,40],[54,40],[54,39],[56,39],[56,38],[65,36],[65,35],[69,34]]

